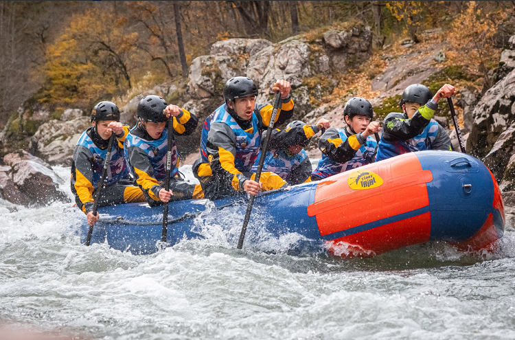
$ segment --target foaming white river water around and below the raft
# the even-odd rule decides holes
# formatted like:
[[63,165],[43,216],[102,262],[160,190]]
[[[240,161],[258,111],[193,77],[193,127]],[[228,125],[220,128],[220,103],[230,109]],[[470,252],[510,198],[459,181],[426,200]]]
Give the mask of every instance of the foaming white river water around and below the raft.
[[515,339],[512,227],[492,253],[343,260],[207,239],[134,256],[80,244],[70,205],[0,199],[0,339]]

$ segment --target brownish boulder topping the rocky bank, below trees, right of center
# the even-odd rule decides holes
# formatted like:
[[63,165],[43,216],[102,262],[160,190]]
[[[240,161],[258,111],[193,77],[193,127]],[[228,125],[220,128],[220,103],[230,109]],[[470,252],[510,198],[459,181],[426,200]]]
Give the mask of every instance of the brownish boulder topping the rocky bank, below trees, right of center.
[[368,26],[328,30],[323,34],[323,43],[334,69],[341,73],[358,67],[372,54],[372,32]]

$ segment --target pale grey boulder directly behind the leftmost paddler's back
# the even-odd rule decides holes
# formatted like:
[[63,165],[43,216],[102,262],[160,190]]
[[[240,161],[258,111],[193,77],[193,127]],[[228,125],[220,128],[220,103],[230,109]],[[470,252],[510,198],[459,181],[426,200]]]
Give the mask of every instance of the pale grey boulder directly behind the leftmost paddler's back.
[[61,122],[50,120],[38,128],[30,139],[29,150],[51,164],[69,166],[73,148],[80,135],[91,126],[88,117]]

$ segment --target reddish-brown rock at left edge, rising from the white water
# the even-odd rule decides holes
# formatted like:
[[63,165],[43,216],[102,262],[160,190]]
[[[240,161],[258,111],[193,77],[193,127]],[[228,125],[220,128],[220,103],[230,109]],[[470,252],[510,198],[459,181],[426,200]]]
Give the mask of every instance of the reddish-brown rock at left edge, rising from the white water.
[[25,150],[3,157],[7,166],[0,167],[0,190],[2,198],[21,205],[46,205],[69,201],[58,189],[62,179],[45,163]]

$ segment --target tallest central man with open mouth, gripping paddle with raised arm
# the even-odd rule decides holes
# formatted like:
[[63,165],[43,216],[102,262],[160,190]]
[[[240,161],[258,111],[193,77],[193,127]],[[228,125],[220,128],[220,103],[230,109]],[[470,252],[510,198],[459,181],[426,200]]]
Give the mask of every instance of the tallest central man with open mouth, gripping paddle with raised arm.
[[[290,83],[278,80],[273,91],[281,93],[275,126],[293,115]],[[258,194],[288,185],[273,172],[262,172],[253,181],[251,168],[258,158],[262,131],[271,120],[273,106],[256,104],[258,87],[247,77],[234,77],[224,88],[225,104],[209,115],[201,137],[201,158],[193,165],[194,176],[203,184],[206,197],[218,199],[247,192]]]

